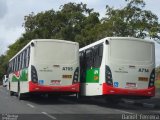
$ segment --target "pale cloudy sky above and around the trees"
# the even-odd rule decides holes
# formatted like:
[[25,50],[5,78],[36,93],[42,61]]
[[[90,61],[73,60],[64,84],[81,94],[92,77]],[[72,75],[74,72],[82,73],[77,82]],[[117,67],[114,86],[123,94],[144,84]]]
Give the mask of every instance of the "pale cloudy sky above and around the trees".
[[[68,2],[86,3],[88,8],[105,16],[105,6],[122,8],[125,0],[0,0],[0,54],[4,54],[8,45],[17,40],[24,28],[24,16],[31,12],[38,13],[45,10],[58,10],[60,5]],[[160,0],[145,0],[146,9],[151,10],[159,17]],[[159,53],[158,53],[159,52]],[[160,44],[156,44],[156,64],[160,65]]]

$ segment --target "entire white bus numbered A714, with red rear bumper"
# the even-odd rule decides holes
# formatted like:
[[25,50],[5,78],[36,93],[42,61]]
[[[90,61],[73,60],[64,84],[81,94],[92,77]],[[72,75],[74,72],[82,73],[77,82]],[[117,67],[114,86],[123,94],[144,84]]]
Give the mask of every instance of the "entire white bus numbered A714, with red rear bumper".
[[81,95],[150,98],[155,95],[154,42],[106,37],[79,50]]

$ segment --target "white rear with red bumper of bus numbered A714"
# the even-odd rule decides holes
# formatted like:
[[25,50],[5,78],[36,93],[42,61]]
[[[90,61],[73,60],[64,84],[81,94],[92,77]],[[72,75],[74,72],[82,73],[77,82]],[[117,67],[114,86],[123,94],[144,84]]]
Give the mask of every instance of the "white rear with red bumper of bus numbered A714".
[[103,94],[154,96],[154,44],[137,39],[112,39],[108,48]]

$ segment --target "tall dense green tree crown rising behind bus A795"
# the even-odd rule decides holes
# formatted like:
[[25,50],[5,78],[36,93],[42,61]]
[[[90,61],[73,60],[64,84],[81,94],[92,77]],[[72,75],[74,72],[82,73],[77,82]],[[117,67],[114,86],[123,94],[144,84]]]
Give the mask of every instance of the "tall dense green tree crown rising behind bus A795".
[[[80,45],[94,42],[92,29],[100,24],[99,14],[86,4],[68,3],[60,6],[59,11],[49,10],[25,16],[26,38],[57,38],[77,41]],[[92,32],[90,32],[92,31]],[[91,35],[91,37],[90,37]],[[90,41],[90,42],[88,42]]]

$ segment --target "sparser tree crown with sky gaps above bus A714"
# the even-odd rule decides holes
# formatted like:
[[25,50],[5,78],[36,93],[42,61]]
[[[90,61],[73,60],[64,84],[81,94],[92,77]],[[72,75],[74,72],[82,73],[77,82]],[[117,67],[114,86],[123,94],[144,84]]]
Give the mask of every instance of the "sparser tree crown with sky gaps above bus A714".
[[125,0],[122,9],[106,6],[106,17],[102,19],[103,36],[132,36],[159,39],[160,25],[158,17],[145,10],[143,0]]

